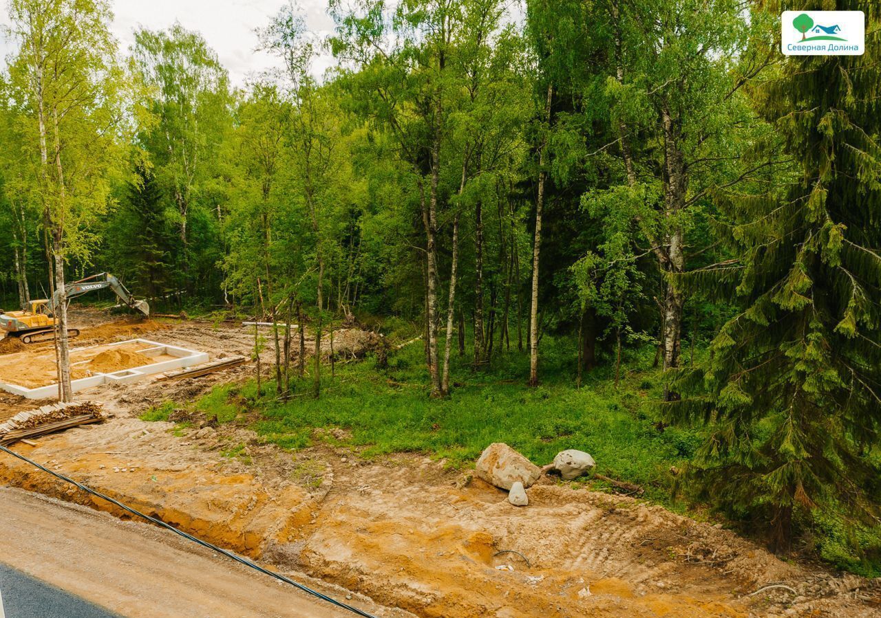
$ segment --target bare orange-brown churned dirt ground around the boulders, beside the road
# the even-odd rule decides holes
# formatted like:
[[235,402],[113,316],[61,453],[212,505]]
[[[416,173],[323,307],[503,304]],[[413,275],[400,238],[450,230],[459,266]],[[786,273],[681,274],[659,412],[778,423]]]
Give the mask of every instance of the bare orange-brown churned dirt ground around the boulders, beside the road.
[[[156,329],[211,360],[248,355],[253,341],[229,324]],[[781,561],[632,497],[545,477],[518,508],[444,461],[366,461],[323,442],[292,454],[232,424],[181,433],[137,419],[246,372],[93,389],[78,398],[115,417],[15,448],[206,540],[419,616],[881,615],[877,581]],[[9,457],[0,482],[115,510]]]

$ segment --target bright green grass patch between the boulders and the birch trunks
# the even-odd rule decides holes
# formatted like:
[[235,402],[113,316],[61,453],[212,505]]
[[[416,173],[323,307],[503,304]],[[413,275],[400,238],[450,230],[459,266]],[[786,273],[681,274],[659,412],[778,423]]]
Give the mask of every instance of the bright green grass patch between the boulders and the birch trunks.
[[[537,464],[577,448],[594,456],[598,472],[639,483],[649,497],[671,505],[670,467],[692,456],[700,436],[655,429],[648,401],[660,391],[648,366],[651,358],[631,359],[636,369],[618,390],[600,370],[576,389],[574,349],[552,343],[546,349],[560,351],[542,358],[545,378],[537,388],[525,384],[525,354],[502,355],[480,372],[455,358],[451,382],[458,386],[448,399],[436,401],[428,397],[422,347],[414,343],[391,357],[386,371],[376,369],[373,359],[339,365],[334,379],[325,368],[319,400],[311,396],[309,379],[293,385],[294,398],[287,403],[274,401],[273,383],[264,386],[257,401],[263,420],[254,429],[268,442],[300,449],[316,440],[338,444],[328,432],[316,437],[314,431],[338,427],[351,433],[343,443],[358,447],[363,457],[421,452],[455,467],[472,465],[492,442],[505,442]],[[218,389],[197,407],[222,409],[231,395]],[[255,397],[255,390],[249,395]]]

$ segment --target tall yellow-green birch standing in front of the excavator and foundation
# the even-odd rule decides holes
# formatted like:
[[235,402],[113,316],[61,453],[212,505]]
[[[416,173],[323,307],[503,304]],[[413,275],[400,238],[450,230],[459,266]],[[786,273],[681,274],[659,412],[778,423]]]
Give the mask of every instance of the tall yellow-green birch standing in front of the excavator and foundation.
[[31,148],[39,153],[33,182],[48,239],[51,290],[59,301],[59,399],[71,401],[64,268],[93,249],[90,224],[107,210],[110,178],[122,169],[126,78],[116,63],[107,2],[12,0],[9,16],[19,43],[11,84],[28,110]]

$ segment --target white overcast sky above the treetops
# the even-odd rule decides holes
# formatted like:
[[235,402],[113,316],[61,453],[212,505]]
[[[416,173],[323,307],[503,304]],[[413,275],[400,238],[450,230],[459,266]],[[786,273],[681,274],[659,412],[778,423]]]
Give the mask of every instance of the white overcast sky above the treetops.
[[[255,51],[258,41],[254,29],[266,26],[284,4],[286,0],[112,0],[115,18],[110,29],[119,40],[120,51],[127,54],[137,26],[159,30],[177,20],[188,30],[202,33],[229,70],[233,85],[244,85],[249,73],[279,66],[269,54]],[[326,0],[298,0],[297,4],[306,15],[309,30],[321,38],[333,32]],[[0,24],[8,25],[4,1],[2,6]],[[11,41],[0,33],[2,66],[13,49]],[[321,76],[333,63],[332,56],[322,53],[315,60],[313,73]]]

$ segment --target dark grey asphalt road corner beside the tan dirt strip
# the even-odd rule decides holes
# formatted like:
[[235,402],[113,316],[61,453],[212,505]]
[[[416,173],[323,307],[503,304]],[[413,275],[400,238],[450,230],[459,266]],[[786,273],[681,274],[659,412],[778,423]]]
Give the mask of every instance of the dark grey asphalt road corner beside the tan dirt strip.
[[0,563],[3,618],[116,618],[78,596]]

